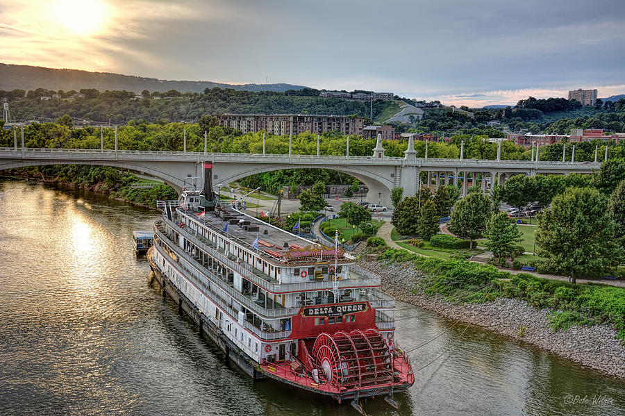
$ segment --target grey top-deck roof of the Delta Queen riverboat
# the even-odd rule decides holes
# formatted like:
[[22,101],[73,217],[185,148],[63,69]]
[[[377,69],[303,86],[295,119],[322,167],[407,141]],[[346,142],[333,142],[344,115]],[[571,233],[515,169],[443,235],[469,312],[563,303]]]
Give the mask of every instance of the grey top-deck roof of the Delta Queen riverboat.
[[[223,231],[226,222],[230,223],[231,219],[235,219],[236,224],[228,224],[228,238],[238,240],[242,247],[256,250],[252,247],[252,244],[258,237],[258,253],[265,253],[274,259],[306,262],[310,258],[321,256],[321,251],[323,251],[323,257],[325,259],[330,256],[334,258],[335,256],[334,247],[328,247],[330,244],[319,244],[306,240],[306,238],[284,231],[281,228],[268,224],[267,222],[261,221],[256,217],[247,215],[229,206],[220,207],[214,212],[206,211],[203,219],[199,218],[199,212],[194,212],[192,210],[178,208],[178,212],[195,217],[199,222],[203,222],[203,224],[219,232]],[[224,217],[228,217],[228,220],[226,221]],[[242,226],[238,225],[240,220],[249,221],[249,225],[258,226],[258,231],[247,231]],[[267,231],[267,233],[265,233],[265,231]],[[339,247],[338,257],[340,263],[353,263],[353,258],[345,254],[344,250]]]

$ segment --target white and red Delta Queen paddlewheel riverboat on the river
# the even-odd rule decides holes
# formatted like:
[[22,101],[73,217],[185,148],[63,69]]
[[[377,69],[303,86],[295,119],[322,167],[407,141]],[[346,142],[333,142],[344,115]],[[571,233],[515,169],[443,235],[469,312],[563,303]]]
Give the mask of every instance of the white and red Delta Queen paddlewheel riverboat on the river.
[[[351,400],[392,395],[415,381],[394,342],[394,299],[338,242],[315,244],[203,190],[158,201],[151,268],[197,324],[255,380]],[[220,203],[221,202],[221,203]],[[327,246],[332,247],[327,247]]]

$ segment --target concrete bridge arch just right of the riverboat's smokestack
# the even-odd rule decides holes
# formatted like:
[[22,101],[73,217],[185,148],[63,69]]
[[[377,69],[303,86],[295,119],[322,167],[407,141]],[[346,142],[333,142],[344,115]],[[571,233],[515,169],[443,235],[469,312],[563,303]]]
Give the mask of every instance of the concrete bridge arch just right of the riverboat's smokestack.
[[[247,169],[240,169],[242,166],[247,167]],[[378,199],[381,199],[381,203],[383,203],[383,205],[390,206],[390,192],[394,188],[392,178],[386,178],[379,172],[372,172],[369,169],[363,169],[363,167],[352,165],[253,164],[249,166],[233,166],[231,164],[217,162],[215,163],[214,171],[214,173],[217,173],[215,182],[227,185],[228,183],[238,181],[242,178],[246,178],[247,176],[263,174],[265,172],[274,172],[281,169],[329,169],[351,175],[362,181],[365,185],[367,185],[367,188],[369,188],[367,200],[372,203],[377,203]]]

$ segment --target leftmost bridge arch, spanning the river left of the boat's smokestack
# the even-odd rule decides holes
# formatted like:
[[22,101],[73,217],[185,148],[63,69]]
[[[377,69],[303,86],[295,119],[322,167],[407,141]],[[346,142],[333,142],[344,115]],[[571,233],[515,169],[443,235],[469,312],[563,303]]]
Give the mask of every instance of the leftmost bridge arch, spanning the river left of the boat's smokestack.
[[46,165],[90,165],[90,166],[110,166],[128,169],[135,172],[143,172],[161,179],[167,185],[172,186],[176,192],[180,193],[185,185],[183,178],[163,172],[149,164],[128,162],[124,160],[11,160],[0,163],[0,171],[13,169],[16,167],[46,166]]

